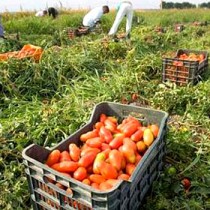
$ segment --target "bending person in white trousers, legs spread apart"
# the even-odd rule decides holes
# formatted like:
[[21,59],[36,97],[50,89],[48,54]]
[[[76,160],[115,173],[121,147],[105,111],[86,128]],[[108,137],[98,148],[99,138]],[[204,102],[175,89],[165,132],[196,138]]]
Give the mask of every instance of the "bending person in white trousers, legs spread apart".
[[115,17],[114,23],[109,31],[109,36],[115,36],[120,23],[123,18],[126,17],[126,37],[130,37],[130,31],[133,19],[133,6],[130,1],[122,1],[117,7],[117,15]]

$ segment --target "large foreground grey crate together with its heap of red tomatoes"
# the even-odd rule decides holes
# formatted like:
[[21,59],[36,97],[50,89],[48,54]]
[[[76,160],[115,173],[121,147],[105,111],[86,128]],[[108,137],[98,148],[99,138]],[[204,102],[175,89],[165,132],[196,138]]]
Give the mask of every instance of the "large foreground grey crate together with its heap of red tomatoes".
[[33,208],[138,209],[163,167],[167,120],[163,111],[102,102],[54,148],[28,146]]

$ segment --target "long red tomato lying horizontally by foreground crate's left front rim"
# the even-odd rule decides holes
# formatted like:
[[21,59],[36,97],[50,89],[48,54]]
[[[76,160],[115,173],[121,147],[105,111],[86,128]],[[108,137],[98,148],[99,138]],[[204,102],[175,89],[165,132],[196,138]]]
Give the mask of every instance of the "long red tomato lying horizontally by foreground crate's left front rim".
[[73,161],[63,161],[60,163],[55,163],[51,166],[51,168],[53,168],[56,171],[59,172],[74,172],[77,170],[78,168],[78,163],[77,162],[73,162]]

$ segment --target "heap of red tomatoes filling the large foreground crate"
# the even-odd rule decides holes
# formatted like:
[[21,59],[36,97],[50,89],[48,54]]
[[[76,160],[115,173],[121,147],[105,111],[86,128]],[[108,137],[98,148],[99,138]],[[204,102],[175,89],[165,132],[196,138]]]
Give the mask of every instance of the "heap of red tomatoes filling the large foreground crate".
[[80,136],[81,146],[55,149],[45,164],[94,189],[108,190],[129,180],[158,132],[158,125],[143,126],[132,116],[118,123],[116,117],[101,114],[93,129]]

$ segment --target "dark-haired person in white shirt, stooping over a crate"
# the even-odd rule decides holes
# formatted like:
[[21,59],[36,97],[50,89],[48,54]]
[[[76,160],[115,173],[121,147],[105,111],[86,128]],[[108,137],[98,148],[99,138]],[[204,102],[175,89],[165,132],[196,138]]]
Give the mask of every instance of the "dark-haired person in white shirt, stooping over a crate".
[[83,26],[93,28],[106,13],[109,13],[109,7],[106,5],[90,10],[83,18]]

